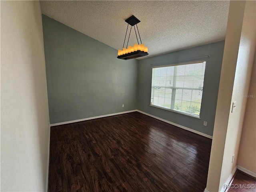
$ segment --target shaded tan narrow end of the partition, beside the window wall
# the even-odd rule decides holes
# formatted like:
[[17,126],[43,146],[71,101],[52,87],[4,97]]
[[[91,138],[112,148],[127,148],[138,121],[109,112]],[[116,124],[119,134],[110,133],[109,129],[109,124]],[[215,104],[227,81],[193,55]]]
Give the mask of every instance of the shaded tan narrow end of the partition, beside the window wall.
[[245,2],[230,1],[206,189],[217,192],[224,156]]

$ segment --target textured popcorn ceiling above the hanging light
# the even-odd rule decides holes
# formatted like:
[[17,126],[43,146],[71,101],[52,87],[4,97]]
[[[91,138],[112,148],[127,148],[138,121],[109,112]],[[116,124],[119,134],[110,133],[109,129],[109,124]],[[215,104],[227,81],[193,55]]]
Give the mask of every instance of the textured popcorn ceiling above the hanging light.
[[[40,1],[42,14],[122,49],[131,15],[149,56],[225,39],[229,1]],[[134,30],[129,44],[136,43]],[[147,56],[147,57],[149,57]]]

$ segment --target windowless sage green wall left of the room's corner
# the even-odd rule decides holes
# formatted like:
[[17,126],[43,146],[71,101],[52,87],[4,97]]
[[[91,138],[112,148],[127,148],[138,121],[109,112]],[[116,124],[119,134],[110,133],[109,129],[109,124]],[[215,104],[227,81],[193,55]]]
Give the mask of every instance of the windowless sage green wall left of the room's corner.
[[137,60],[117,59],[114,48],[45,15],[42,21],[51,124],[137,109]]

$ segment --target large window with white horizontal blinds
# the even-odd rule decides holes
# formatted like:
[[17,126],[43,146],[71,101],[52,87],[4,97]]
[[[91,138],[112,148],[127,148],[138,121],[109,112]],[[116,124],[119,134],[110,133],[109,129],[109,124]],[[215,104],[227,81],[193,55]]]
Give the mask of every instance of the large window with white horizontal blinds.
[[200,116],[206,62],[152,69],[151,105]]

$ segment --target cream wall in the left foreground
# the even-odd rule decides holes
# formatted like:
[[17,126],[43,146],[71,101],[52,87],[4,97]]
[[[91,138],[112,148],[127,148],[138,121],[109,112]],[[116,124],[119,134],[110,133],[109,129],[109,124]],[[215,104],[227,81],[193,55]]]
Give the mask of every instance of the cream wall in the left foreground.
[[49,139],[39,1],[1,1],[1,191],[45,191]]

